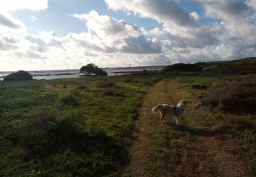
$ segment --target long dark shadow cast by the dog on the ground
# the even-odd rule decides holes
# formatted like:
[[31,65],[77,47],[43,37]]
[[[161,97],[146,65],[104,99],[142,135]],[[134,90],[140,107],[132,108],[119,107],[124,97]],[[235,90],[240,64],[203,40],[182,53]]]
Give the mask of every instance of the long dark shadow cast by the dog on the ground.
[[169,125],[171,127],[175,127],[175,129],[177,129],[179,131],[188,132],[193,135],[199,135],[199,136],[208,137],[208,138],[216,135],[215,131],[208,131],[205,129],[197,129],[195,127],[190,127],[188,125],[173,125],[171,123],[165,123],[165,124]]

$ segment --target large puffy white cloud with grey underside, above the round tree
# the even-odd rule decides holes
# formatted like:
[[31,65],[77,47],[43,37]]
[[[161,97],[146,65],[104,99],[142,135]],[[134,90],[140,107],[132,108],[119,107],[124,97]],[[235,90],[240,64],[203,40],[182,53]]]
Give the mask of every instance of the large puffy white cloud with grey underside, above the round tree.
[[99,15],[96,11],[73,16],[86,22],[88,28],[88,33],[85,34],[87,39],[84,38],[81,44],[96,46],[104,52],[145,54],[161,52],[157,39],[145,39],[138,27],[124,20]]

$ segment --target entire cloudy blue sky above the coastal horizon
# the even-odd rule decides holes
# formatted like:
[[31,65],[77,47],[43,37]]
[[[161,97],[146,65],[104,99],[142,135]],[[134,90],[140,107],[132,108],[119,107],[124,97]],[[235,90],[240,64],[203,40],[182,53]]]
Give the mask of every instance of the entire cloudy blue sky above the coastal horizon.
[[256,0],[0,0],[0,71],[256,56]]

